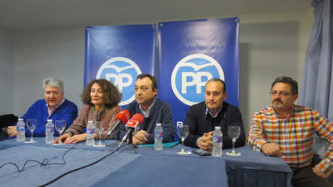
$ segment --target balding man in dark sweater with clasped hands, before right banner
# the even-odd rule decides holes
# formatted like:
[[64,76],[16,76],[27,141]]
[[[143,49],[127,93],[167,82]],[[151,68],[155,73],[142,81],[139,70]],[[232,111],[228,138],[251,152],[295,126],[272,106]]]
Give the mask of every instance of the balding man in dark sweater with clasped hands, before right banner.
[[240,127],[240,136],[235,146],[245,145],[242,114],[237,107],[224,102],[226,95],[226,83],[223,80],[208,80],[205,85],[205,101],[191,106],[186,114],[184,124],[189,125],[189,136],[184,141],[186,146],[211,151],[216,126],[221,127],[223,133],[223,149],[232,148],[231,138],[228,137],[229,126]]

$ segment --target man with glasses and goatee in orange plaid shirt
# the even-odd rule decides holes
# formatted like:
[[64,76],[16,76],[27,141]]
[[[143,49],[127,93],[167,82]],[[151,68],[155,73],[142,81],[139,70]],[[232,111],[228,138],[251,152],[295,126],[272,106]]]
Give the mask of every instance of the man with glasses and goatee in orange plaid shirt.
[[[332,122],[314,109],[294,105],[298,85],[292,78],[275,79],[270,95],[273,106],[253,114],[248,134],[250,146],[284,159],[294,172],[293,186],[332,186],[326,179],[333,173]],[[314,133],[329,143],[319,164],[312,163]]]

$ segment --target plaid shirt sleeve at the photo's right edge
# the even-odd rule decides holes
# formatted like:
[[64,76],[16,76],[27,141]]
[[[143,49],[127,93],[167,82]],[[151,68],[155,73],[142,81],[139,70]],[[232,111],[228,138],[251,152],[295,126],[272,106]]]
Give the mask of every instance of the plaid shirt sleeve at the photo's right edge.
[[315,132],[319,137],[326,139],[329,144],[325,157],[318,166],[323,173],[330,175],[333,173],[333,123],[322,117],[317,111],[313,111],[313,115]]

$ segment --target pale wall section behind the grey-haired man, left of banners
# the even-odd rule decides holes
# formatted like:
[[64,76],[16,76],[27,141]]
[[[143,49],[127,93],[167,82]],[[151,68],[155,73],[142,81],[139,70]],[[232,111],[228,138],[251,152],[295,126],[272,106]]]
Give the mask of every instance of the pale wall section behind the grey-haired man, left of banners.
[[60,78],[65,97],[82,107],[85,28],[24,30],[14,33],[14,113],[43,98],[43,79]]

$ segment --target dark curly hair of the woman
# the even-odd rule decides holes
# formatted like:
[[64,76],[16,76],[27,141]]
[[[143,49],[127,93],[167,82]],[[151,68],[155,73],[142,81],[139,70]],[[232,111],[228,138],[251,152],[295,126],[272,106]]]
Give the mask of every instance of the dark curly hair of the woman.
[[93,106],[93,103],[91,103],[90,90],[95,83],[102,87],[104,94],[103,99],[105,101],[106,107],[113,107],[117,105],[120,100],[122,100],[122,94],[118,91],[117,87],[115,87],[112,82],[105,79],[95,79],[89,82],[89,84],[85,86],[85,90],[83,90],[81,101],[85,102],[85,104]]

